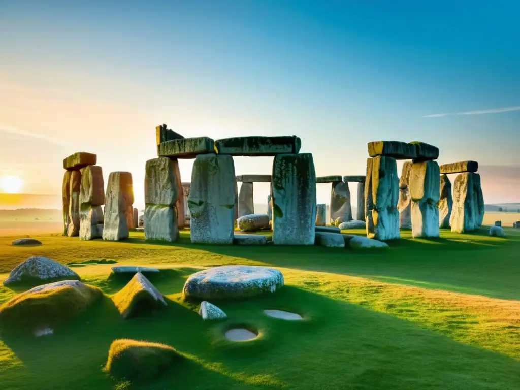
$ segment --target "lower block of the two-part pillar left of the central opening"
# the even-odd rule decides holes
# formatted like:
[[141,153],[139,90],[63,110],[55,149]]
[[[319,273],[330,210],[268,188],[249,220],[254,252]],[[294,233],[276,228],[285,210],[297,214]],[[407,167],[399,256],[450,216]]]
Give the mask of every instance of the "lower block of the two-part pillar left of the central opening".
[[175,207],[147,204],[145,207],[145,239],[175,242],[179,238]]

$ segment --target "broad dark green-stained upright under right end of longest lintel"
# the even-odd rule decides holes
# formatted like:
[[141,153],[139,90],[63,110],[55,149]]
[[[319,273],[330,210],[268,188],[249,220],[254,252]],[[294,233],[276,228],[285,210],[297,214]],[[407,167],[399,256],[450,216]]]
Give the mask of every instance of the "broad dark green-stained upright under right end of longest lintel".
[[275,157],[272,214],[272,237],[276,245],[314,245],[316,171],[312,154]]

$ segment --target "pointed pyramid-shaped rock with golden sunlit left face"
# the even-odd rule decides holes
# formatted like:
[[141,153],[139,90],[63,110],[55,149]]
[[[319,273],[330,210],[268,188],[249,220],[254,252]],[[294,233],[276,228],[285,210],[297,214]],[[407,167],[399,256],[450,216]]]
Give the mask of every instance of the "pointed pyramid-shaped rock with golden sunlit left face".
[[137,272],[121,291],[115,293],[112,301],[123,318],[134,317],[141,310],[167,305],[163,295],[141,272]]

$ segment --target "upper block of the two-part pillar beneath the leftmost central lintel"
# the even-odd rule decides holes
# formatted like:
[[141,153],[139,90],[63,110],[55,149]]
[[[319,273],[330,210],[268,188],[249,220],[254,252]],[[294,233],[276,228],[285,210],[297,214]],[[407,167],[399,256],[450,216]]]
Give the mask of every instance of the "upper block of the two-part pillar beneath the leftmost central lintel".
[[174,161],[166,157],[159,157],[146,162],[146,204],[175,205],[179,192],[175,165]]

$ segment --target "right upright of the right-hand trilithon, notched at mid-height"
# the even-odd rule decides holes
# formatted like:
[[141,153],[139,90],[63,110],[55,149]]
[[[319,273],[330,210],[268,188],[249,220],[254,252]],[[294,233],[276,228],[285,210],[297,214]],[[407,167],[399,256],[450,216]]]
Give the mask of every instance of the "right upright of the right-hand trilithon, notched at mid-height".
[[439,237],[439,164],[414,162],[410,170],[412,237]]

